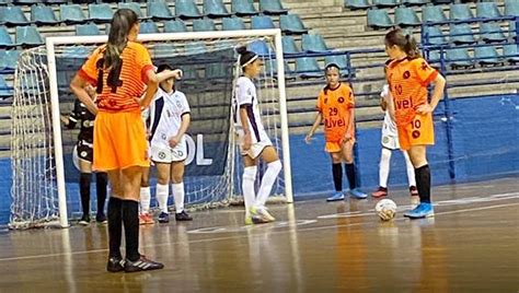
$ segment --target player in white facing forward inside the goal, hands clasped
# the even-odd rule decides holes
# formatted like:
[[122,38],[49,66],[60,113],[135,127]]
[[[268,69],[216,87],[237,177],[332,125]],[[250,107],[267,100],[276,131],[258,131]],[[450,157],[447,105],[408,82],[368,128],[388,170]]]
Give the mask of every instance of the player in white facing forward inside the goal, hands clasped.
[[[159,66],[157,72],[172,70],[168,65]],[[175,79],[160,83],[148,109],[150,157],[157,167],[155,196],[161,211],[160,223],[168,223],[168,196],[170,179],[175,202],[175,220],[193,220],[184,210],[184,165],[187,159],[185,132],[191,122],[191,109],[184,93],[175,90]],[[148,207],[146,207],[146,204]],[[141,199],[141,210],[149,209],[149,199]]]

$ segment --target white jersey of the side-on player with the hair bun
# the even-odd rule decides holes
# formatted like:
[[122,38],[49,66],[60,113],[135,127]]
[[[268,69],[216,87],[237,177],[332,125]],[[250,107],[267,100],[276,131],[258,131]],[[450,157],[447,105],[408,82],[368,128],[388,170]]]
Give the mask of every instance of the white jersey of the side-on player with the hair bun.
[[263,127],[260,114],[260,104],[257,103],[256,86],[246,77],[240,77],[234,89],[233,115],[234,126],[240,134],[242,131],[242,121],[240,119],[240,108],[245,106],[247,109],[249,129],[251,130],[252,143],[269,141],[265,128]]

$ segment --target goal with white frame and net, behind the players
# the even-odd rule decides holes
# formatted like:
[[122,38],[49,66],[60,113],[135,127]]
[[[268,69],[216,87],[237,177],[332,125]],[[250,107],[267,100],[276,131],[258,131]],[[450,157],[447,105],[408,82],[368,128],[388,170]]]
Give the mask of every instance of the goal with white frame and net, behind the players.
[[[240,201],[242,162],[231,122],[235,47],[261,48],[255,81],[264,125],[284,162],[273,196],[291,202],[285,79],[279,30],[140,35],[153,63],[184,71],[177,89],[192,109],[187,131],[186,207],[211,208]],[[79,215],[79,171],[72,164],[78,130],[61,128],[74,96],[70,80],[105,36],[50,37],[21,54],[12,107],[12,204],[10,226],[68,226]],[[265,54],[266,52],[266,54]],[[260,167],[262,169],[262,167]],[[260,172],[258,176],[262,176]],[[95,190],[92,185],[92,199]],[[154,198],[152,171],[152,198]],[[173,200],[169,201],[173,203]],[[95,204],[91,204],[95,207]]]

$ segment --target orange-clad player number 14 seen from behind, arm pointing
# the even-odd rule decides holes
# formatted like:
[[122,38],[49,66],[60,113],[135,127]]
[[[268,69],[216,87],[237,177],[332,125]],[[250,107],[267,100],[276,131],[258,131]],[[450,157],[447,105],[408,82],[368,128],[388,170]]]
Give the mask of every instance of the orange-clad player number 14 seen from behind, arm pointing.
[[[111,22],[108,42],[94,50],[70,84],[78,98],[96,115],[93,168],[107,172],[112,187],[106,267],[111,272],[164,267],[139,254],[139,186],[142,167],[149,166],[140,109],[149,105],[159,82],[180,78],[182,72],[155,73],[150,54],[136,43],[138,33],[137,14],[129,9],[117,10]],[[88,84],[96,86],[96,103],[84,90]],[[119,249],[123,224],[125,260]]]

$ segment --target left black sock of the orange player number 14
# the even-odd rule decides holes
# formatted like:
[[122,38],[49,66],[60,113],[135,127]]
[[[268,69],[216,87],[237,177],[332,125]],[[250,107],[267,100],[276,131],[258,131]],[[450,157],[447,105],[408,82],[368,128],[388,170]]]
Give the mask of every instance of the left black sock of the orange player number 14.
[[123,237],[123,200],[111,197],[108,200],[109,257],[122,258],[120,256],[122,237]]

